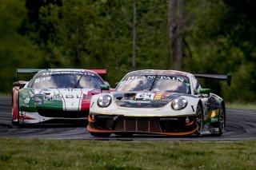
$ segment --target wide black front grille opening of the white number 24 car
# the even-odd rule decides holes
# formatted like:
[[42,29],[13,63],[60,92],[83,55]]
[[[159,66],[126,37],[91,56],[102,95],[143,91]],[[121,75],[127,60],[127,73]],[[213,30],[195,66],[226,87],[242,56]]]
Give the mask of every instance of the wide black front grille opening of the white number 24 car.
[[[195,125],[186,125],[186,117],[123,117],[94,114],[94,128],[117,132],[187,132]],[[194,117],[190,117],[193,120]]]

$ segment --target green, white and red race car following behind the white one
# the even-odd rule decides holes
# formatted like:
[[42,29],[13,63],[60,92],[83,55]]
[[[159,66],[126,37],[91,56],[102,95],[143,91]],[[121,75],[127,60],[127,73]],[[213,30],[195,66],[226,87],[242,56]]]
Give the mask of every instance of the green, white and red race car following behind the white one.
[[85,120],[90,99],[106,82],[98,75],[106,69],[17,69],[36,73],[30,81],[14,82],[12,123],[69,123]]

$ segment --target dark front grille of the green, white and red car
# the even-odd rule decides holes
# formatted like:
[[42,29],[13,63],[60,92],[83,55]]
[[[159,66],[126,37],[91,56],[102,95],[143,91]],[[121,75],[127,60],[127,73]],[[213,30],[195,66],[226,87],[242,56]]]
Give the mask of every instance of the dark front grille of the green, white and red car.
[[39,109],[38,114],[42,117],[61,117],[61,118],[82,118],[88,116],[88,111],[64,111]]

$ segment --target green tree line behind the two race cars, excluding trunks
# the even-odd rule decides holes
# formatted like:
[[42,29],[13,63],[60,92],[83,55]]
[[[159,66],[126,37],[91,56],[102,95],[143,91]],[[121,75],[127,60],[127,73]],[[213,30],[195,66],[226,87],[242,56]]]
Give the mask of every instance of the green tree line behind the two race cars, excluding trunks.
[[[0,93],[15,68],[108,69],[110,85],[132,69],[133,0],[0,0]],[[136,69],[172,69],[168,0],[137,1]],[[185,1],[182,70],[232,73],[210,88],[256,101],[256,2]],[[205,84],[202,82],[202,84]]]

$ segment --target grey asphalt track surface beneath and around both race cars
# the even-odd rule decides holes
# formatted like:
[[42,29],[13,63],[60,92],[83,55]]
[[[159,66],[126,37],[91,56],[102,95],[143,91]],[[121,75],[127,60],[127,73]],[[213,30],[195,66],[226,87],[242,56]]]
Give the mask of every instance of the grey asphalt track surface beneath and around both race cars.
[[11,97],[0,97],[0,137],[61,139],[61,140],[182,140],[230,141],[256,140],[256,111],[226,109],[226,129],[222,136],[155,136],[132,137],[111,135],[101,138],[90,136],[86,121],[78,125],[30,125],[18,127],[11,124]]

